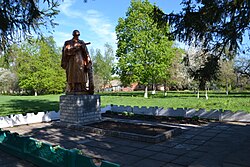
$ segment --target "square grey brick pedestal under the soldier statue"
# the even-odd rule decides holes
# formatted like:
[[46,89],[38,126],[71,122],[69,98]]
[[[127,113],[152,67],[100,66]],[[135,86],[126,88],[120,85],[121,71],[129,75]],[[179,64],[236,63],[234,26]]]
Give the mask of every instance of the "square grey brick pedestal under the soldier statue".
[[60,123],[82,126],[101,120],[99,95],[60,96]]

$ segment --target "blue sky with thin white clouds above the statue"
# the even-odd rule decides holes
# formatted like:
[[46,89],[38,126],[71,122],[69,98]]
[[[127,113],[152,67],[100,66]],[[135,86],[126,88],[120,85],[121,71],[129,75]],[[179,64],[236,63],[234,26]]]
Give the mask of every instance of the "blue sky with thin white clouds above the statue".
[[[179,12],[181,0],[149,0],[164,12]],[[59,25],[54,29],[53,37],[58,47],[72,38],[72,31],[80,31],[80,39],[91,42],[88,48],[101,49],[109,43],[116,49],[115,27],[118,19],[125,18],[130,0],[63,0],[60,13],[55,18]]]

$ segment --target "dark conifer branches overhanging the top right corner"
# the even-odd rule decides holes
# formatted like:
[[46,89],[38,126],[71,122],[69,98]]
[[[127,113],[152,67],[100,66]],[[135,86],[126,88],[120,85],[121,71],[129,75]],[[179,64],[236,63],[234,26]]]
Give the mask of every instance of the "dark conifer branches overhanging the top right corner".
[[[159,26],[171,25],[170,35],[188,44],[202,45],[206,52],[233,57],[243,36],[250,32],[249,0],[183,0],[179,13],[153,12]],[[168,24],[166,24],[168,23]],[[225,54],[228,52],[230,54]]]

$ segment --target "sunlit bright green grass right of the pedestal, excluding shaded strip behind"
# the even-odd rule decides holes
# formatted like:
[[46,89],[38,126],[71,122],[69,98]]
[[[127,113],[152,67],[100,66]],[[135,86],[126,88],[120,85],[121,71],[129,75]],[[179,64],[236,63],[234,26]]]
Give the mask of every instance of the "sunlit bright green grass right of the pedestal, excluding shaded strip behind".
[[126,96],[102,96],[102,103],[125,106],[158,106],[164,108],[204,108],[250,112],[250,98],[166,97],[149,98]]

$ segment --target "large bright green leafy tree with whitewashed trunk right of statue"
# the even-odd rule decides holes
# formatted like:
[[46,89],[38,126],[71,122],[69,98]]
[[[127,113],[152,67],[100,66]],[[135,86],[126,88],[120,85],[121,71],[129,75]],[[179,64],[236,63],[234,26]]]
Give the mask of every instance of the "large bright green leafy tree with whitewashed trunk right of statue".
[[117,74],[124,85],[132,82],[144,85],[144,97],[149,84],[167,76],[174,56],[173,42],[166,36],[169,29],[157,28],[151,17],[153,10],[148,0],[132,0],[126,18],[119,18],[116,26]]

